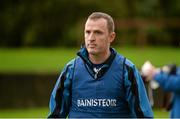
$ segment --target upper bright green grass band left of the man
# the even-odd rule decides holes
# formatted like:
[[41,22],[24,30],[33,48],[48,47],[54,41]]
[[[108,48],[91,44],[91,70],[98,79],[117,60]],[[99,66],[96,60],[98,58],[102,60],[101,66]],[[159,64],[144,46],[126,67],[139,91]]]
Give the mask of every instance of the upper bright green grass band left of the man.
[[76,49],[0,49],[0,72],[59,72]]

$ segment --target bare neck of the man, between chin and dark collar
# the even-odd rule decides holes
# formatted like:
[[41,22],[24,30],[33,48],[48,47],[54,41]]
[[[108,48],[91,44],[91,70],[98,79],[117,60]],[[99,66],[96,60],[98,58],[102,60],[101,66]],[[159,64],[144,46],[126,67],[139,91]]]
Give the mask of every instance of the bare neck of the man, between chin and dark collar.
[[89,60],[93,64],[102,64],[109,58],[110,55],[111,55],[110,50],[108,50],[104,54],[100,54],[100,55],[89,54]]

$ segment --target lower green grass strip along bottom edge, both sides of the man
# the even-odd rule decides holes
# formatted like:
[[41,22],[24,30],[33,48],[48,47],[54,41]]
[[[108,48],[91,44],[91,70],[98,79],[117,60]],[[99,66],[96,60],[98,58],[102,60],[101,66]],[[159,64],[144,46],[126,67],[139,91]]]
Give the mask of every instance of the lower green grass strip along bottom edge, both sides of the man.
[[[0,110],[0,118],[46,118],[48,108],[6,109]],[[168,118],[169,114],[163,109],[154,109],[155,118]]]

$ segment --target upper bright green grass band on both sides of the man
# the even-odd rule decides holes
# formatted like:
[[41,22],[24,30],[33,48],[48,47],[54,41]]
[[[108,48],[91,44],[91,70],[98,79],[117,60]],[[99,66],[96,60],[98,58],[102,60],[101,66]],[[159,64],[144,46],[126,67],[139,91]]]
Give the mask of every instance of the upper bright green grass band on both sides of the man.
[[[76,56],[78,48],[22,48],[0,49],[0,72],[59,72],[64,65]],[[155,66],[167,63],[180,65],[180,48],[117,48],[117,51],[129,58],[137,67],[146,60]]]

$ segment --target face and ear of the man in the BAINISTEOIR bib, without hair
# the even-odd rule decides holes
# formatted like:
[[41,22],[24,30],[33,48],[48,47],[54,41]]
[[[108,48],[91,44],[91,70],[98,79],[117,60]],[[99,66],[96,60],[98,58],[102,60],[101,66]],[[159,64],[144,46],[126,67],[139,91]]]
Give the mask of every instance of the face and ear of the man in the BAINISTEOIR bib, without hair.
[[108,31],[107,21],[105,19],[88,19],[85,24],[84,37],[88,53],[99,55],[109,50],[115,33]]

